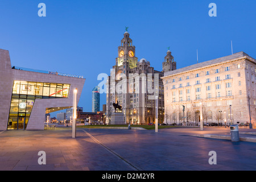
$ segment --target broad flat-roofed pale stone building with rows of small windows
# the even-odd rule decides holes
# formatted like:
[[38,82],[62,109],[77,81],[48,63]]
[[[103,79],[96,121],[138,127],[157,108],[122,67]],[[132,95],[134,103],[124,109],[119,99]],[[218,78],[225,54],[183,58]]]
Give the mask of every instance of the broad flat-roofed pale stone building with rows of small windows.
[[168,123],[197,124],[200,109],[208,123],[224,123],[225,114],[230,124],[250,122],[250,115],[256,122],[256,60],[245,52],[165,72],[162,79]]

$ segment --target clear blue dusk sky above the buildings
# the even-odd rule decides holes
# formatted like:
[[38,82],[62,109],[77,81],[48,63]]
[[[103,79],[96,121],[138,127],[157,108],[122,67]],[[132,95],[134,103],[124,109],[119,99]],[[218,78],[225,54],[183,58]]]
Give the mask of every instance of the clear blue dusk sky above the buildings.
[[[39,17],[39,3],[46,17]],[[217,5],[217,16],[208,12]],[[110,75],[125,27],[138,60],[162,71],[167,47],[177,69],[246,52],[256,58],[255,0],[103,1],[0,0],[0,48],[16,67],[82,75],[79,106],[92,111],[92,89]],[[101,94],[100,105],[106,104]]]

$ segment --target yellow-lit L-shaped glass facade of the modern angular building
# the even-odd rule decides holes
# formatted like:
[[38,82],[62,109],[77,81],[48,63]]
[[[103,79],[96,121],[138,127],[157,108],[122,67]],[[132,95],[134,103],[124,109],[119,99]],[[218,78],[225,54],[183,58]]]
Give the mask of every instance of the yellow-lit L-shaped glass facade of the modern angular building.
[[36,99],[67,98],[70,84],[14,81],[7,130],[26,130]]

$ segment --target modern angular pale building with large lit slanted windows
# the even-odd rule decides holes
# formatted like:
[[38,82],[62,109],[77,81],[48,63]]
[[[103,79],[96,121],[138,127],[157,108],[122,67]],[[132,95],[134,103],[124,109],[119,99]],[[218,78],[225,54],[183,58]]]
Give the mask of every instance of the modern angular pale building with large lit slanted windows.
[[12,67],[3,49],[0,65],[0,130],[43,130],[46,114],[72,107],[75,88],[79,101],[84,78]]

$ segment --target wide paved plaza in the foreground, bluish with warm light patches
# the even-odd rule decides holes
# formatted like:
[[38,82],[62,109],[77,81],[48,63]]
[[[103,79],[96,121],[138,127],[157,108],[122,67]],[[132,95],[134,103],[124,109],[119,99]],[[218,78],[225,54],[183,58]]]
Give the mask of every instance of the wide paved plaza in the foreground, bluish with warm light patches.
[[[240,129],[256,138],[256,129]],[[81,129],[0,131],[0,170],[20,171],[197,171],[256,170],[256,143],[204,138],[230,135],[224,127],[155,130]],[[200,137],[201,136],[201,137]],[[39,165],[39,151],[46,164]],[[210,151],[217,164],[209,164]]]

